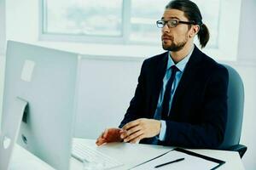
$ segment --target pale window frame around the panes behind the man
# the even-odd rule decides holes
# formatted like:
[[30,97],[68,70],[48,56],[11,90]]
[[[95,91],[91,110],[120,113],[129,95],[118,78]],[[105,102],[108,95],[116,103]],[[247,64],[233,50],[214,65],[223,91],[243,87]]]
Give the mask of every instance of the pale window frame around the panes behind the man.
[[[131,18],[131,0],[123,0],[122,10],[122,34],[120,37],[107,37],[107,36],[85,36],[85,35],[65,35],[65,34],[50,34],[45,33],[43,28],[43,22],[45,20],[44,14],[44,3],[47,0],[39,0],[39,41],[50,41],[50,42],[81,42],[81,43],[95,43],[95,44],[113,44],[113,45],[138,45],[144,47],[155,47],[159,46],[160,43],[154,42],[137,42],[130,40],[130,18]],[[230,7],[230,4],[232,6]],[[241,17],[241,0],[225,1],[220,2],[220,14],[218,21],[218,45],[207,46],[202,51],[214,59],[220,60],[231,60],[234,61],[237,58],[239,28],[240,28],[240,17]],[[237,20],[229,23],[232,18]],[[226,30],[228,32],[224,32]],[[197,39],[197,37],[195,38]],[[226,45],[228,40],[231,40],[228,46]],[[196,43],[197,40],[195,40]]]

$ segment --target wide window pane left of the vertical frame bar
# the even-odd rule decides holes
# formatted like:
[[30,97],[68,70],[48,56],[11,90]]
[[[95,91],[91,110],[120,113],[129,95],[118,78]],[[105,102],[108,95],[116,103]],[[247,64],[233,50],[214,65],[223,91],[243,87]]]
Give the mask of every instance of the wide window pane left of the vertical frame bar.
[[121,36],[122,1],[44,1],[44,33]]

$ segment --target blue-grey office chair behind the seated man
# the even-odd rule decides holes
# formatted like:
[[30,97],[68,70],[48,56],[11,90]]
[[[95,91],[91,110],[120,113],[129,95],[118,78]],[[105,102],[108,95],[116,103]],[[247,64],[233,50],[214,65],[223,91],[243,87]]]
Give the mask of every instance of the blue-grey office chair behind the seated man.
[[238,151],[240,157],[242,157],[247,151],[247,146],[239,144],[243,116],[244,87],[237,71],[229,65],[224,65],[224,67],[229,71],[228,115],[224,141],[219,149]]

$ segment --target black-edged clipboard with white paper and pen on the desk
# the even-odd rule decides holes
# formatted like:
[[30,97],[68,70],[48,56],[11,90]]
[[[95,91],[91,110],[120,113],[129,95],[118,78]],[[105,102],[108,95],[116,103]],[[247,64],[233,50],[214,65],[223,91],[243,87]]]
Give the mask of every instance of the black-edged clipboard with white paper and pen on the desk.
[[[166,153],[161,154],[160,156],[155,156],[154,158],[152,158],[148,161],[144,161],[144,162],[138,164],[135,167],[131,167],[130,169],[131,170],[154,169],[155,165],[159,164],[160,162],[163,163],[166,160],[171,161],[172,159],[174,159],[172,156],[186,157],[185,158],[185,163],[183,161],[181,161],[179,164],[177,164],[177,163],[173,164],[173,166],[186,165],[188,163],[193,165],[194,162],[189,161],[189,159],[187,159],[187,158],[190,158],[190,159],[193,158],[194,160],[197,160],[197,161],[201,162],[202,165],[204,165],[204,162],[208,162],[208,164],[211,164],[211,166],[208,166],[207,168],[204,168],[204,169],[208,169],[208,170],[215,170],[218,167],[224,165],[224,163],[225,163],[225,161],[222,161],[222,160],[210,157],[210,156],[204,156],[204,155],[195,153],[195,152],[190,151],[190,150],[185,150],[185,149],[182,149],[182,148],[175,148],[173,150],[168,150]],[[170,157],[171,160],[169,159],[169,157]],[[178,157],[176,157],[176,158],[178,158]],[[161,159],[163,159],[163,160],[161,160]],[[198,165],[198,164],[195,164],[195,165]],[[169,168],[166,166],[166,169],[169,169]],[[180,169],[180,168],[178,168],[178,169]],[[192,167],[191,169],[195,169],[195,167]]]

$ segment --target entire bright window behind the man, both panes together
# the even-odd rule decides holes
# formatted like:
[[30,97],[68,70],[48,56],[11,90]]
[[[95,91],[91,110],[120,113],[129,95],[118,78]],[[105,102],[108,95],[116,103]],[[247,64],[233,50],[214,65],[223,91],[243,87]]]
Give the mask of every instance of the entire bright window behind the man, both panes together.
[[[101,42],[108,37],[119,42],[156,43],[160,41],[160,20],[169,0],[43,0],[43,34],[62,37],[77,36]],[[197,0],[212,42],[218,40],[219,0]],[[154,4],[154,5],[152,5]],[[111,41],[110,41],[111,42]]]

